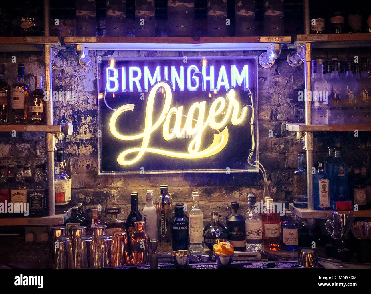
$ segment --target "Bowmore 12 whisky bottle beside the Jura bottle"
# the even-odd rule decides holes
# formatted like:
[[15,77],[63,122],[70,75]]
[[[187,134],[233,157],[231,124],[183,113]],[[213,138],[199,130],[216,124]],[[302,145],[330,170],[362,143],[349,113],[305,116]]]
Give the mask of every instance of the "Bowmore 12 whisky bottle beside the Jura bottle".
[[17,82],[12,85],[10,123],[24,124],[27,115],[26,101],[28,91],[29,86],[24,83],[24,64],[19,63],[18,79]]

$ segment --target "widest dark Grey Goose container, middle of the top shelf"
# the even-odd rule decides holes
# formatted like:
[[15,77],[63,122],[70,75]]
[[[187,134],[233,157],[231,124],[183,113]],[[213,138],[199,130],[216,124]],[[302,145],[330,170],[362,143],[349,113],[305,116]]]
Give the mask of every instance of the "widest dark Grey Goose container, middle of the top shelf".
[[194,0],[168,0],[167,23],[169,37],[191,36],[194,23]]

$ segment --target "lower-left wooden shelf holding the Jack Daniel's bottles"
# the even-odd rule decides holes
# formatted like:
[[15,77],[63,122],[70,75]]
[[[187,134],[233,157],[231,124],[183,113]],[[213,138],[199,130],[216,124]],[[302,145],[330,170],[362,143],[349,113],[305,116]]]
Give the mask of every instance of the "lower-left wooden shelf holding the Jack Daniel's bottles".
[[62,225],[67,219],[67,213],[44,218],[0,218],[0,226]]

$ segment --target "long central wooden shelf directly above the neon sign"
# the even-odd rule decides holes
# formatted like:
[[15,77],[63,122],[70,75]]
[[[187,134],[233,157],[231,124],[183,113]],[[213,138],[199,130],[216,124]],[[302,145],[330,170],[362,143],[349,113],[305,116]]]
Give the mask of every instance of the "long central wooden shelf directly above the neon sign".
[[65,37],[64,42],[89,50],[266,50],[273,43],[291,43],[291,37]]

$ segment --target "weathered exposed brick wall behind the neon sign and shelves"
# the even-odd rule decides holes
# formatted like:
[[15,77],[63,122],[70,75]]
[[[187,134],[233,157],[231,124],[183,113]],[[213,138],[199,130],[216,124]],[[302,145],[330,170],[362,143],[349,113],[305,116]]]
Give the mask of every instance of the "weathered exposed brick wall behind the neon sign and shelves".
[[[112,57],[132,56],[212,56],[212,55],[260,55],[261,51],[239,52],[94,52],[95,55]],[[290,67],[286,62],[287,51],[268,69],[258,68],[258,111],[259,111],[259,153],[264,165],[270,196],[275,200],[288,203],[292,198],[292,173],[297,167],[296,154],[303,152],[302,144],[296,143],[296,137],[286,131],[286,122],[304,121],[304,104],[298,102],[298,91],[303,91],[303,65]],[[16,81],[16,63],[11,63],[11,56],[16,55],[17,63],[25,63],[26,82],[34,88],[35,75],[43,75],[42,53],[0,53],[0,63],[6,64],[6,79],[9,84]],[[55,120],[72,122],[72,136],[63,138],[62,146],[69,157],[73,170],[72,203],[83,202],[91,207],[118,205],[122,208],[119,217],[125,218],[130,209],[130,193],[139,192],[139,209],[145,204],[145,191],[153,189],[159,193],[160,184],[168,184],[175,202],[191,205],[191,192],[200,192],[200,205],[205,218],[210,218],[211,210],[219,211],[224,219],[229,213],[226,207],[231,200],[240,202],[241,210],[246,209],[246,193],[256,193],[259,200],[263,197],[263,178],[261,174],[174,174],[174,175],[98,175],[98,140],[97,140],[97,79],[96,68],[85,70],[78,64],[72,49],[63,51],[67,65],[62,71],[53,70],[53,91],[72,91],[74,101],[54,102]],[[272,130],[273,137],[269,137]],[[365,163],[370,163],[371,141],[369,133],[360,133],[362,144],[349,147],[357,150]],[[334,138],[352,134],[321,134],[316,136],[316,159]],[[357,148],[357,149],[356,149]],[[45,161],[44,134],[23,133],[13,138],[10,134],[0,134],[1,162],[17,160],[36,163]]]

